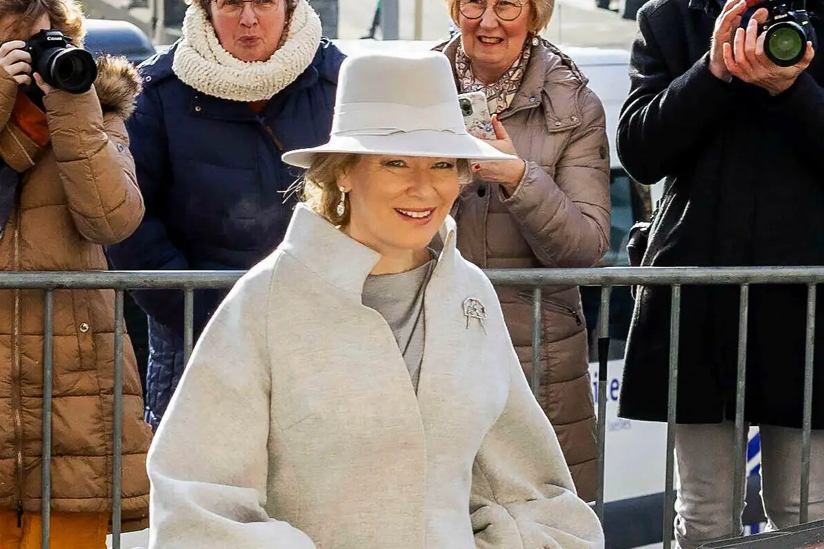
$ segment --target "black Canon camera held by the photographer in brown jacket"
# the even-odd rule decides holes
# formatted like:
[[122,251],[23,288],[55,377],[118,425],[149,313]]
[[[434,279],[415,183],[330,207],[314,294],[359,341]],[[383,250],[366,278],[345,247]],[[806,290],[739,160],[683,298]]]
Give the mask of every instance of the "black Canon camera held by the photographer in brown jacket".
[[95,59],[59,30],[40,30],[23,49],[31,55],[32,71],[39,72],[49,86],[83,93],[97,78]]

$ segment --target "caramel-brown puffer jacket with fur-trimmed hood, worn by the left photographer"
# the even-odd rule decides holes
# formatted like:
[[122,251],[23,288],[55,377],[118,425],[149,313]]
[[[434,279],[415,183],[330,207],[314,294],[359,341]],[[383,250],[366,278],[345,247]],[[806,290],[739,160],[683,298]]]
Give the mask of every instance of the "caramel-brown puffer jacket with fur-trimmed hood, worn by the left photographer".
[[[44,98],[51,142],[38,147],[10,117],[15,81],[0,69],[0,156],[23,174],[0,237],[3,271],[105,270],[101,244],[143,218],[124,120],[140,81],[125,59],[101,58],[91,91]],[[112,291],[54,292],[52,509],[109,512],[112,496]],[[0,509],[40,511],[44,292],[0,291]],[[123,528],[148,515],[138,369],[124,338]]]

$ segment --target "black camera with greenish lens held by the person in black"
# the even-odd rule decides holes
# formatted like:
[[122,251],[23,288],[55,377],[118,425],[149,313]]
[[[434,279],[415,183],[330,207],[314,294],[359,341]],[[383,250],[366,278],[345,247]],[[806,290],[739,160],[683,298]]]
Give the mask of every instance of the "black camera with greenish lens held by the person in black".
[[779,67],[792,67],[807,53],[807,42],[817,47],[816,33],[804,0],[767,0],[769,15],[760,31],[765,32],[764,54]]

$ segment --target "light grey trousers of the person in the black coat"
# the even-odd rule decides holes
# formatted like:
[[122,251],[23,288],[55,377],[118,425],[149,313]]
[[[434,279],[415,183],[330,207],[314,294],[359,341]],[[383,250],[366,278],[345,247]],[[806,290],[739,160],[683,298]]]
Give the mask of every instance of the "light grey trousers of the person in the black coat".
[[[761,498],[768,529],[798,524],[801,501],[801,430],[761,426]],[[745,435],[747,430],[745,430]],[[735,426],[677,425],[676,547],[695,549],[711,540],[742,533],[732,523]],[[824,519],[824,430],[812,431],[809,520]],[[746,449],[746,445],[745,445]],[[738,494],[744,500],[744,493]]]

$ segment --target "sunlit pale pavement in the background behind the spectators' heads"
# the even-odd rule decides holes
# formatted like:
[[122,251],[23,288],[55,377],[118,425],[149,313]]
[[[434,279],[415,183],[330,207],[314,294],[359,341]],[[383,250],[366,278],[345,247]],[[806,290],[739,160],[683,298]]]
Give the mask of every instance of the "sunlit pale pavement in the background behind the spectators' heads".
[[[152,3],[149,7],[129,9],[129,0],[86,0],[90,16],[105,19],[125,19],[152,33]],[[180,0],[182,1],[182,0]],[[314,0],[317,2],[317,0]],[[313,2],[313,0],[310,0]],[[414,40],[415,4],[422,5],[422,40],[440,40],[447,36],[449,16],[444,0],[397,0],[400,11],[400,39]],[[622,0],[613,0],[611,12],[595,6],[595,0],[556,0],[555,13],[544,35],[561,46],[629,49],[637,25],[620,16]],[[338,38],[358,39],[372,25],[377,0],[339,0]],[[180,28],[167,28],[160,42],[171,43],[180,35]],[[380,37],[380,31],[378,31]]]

